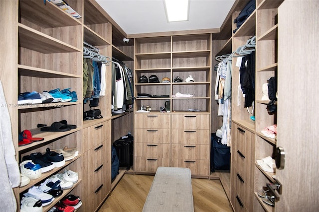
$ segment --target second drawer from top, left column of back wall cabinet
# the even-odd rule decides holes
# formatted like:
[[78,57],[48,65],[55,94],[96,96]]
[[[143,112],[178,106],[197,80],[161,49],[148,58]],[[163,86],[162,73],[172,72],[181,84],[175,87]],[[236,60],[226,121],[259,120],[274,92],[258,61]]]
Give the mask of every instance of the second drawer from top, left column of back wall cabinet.
[[135,129],[135,142],[170,143],[169,129]]

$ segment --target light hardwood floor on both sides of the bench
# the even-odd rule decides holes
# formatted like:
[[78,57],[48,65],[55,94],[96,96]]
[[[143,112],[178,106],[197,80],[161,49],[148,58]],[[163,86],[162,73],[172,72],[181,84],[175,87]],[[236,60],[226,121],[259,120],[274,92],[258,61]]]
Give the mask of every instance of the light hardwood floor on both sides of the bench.
[[[142,212],[154,176],[125,174],[98,212]],[[232,212],[219,180],[192,178],[195,212]]]

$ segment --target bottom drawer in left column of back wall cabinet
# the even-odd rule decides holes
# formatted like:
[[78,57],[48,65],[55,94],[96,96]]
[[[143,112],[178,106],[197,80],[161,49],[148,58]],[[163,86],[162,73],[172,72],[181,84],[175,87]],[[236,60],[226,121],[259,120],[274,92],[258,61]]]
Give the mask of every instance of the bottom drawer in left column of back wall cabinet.
[[135,157],[135,171],[156,172],[159,166],[170,166],[169,158]]

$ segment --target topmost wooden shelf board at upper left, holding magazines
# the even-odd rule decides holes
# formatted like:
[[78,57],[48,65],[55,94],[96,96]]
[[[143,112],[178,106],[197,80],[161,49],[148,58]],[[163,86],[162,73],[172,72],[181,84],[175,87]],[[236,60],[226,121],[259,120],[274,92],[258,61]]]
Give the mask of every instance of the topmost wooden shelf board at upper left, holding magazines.
[[81,25],[81,22],[64,12],[50,1],[20,0],[19,13],[22,18],[44,28]]

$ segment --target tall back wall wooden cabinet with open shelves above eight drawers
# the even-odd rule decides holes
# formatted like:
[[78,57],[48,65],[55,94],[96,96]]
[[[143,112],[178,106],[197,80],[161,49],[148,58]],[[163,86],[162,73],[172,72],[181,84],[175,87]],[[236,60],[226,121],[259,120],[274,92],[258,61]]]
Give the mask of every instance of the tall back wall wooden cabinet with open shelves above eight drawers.
[[[134,63],[135,96],[152,95],[135,100],[134,111],[142,105],[152,108],[148,114],[135,112],[135,171],[155,172],[160,165],[176,166],[208,177],[211,34],[135,38]],[[141,76],[153,74],[159,83],[139,83]],[[177,76],[183,81],[174,82]],[[185,81],[189,76],[194,82]],[[169,78],[168,83],[161,83],[164,77]],[[192,97],[175,96],[178,92]],[[170,113],[159,112],[165,102]]]

